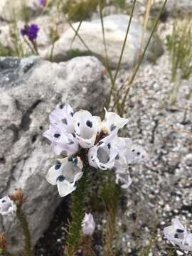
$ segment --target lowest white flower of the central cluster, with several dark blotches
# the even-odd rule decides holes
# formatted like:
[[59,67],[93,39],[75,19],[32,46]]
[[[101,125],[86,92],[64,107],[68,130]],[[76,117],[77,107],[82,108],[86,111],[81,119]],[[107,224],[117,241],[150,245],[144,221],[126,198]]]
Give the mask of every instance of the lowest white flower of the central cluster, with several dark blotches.
[[46,176],[51,185],[58,186],[58,193],[61,197],[75,191],[75,182],[82,177],[82,161],[79,157],[59,159],[57,164],[52,166]]

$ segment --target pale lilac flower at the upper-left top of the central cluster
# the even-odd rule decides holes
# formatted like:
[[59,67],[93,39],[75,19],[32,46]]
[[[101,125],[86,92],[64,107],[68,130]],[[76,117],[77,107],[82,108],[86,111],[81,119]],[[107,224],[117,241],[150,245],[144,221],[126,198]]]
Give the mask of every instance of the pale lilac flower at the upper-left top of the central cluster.
[[68,103],[63,108],[56,108],[49,115],[50,124],[58,124],[66,132],[73,133],[73,108]]

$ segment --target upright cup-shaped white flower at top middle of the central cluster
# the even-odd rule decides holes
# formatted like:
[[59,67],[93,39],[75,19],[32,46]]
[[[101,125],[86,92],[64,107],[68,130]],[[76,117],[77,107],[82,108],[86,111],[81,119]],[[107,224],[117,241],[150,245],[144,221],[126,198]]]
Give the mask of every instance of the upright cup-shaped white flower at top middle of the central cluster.
[[75,136],[82,148],[87,149],[95,144],[97,134],[101,131],[100,117],[92,116],[87,110],[80,110],[73,115]]

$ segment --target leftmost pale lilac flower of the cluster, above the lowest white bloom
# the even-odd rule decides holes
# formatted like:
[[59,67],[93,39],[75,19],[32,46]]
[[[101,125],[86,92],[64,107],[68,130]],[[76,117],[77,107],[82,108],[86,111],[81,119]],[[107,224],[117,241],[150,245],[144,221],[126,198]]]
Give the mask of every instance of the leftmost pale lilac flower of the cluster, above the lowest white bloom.
[[79,144],[73,134],[66,132],[58,124],[50,124],[43,136],[52,142],[53,151],[57,155],[75,154],[79,150]]

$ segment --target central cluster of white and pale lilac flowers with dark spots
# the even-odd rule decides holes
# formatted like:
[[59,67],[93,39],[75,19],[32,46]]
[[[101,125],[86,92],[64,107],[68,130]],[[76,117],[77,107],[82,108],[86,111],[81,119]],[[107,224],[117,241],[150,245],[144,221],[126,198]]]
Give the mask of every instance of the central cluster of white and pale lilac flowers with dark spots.
[[43,135],[52,143],[58,160],[46,179],[58,186],[60,196],[75,190],[85,162],[96,169],[113,169],[116,182],[122,188],[129,187],[129,164],[144,159],[146,152],[142,146],[135,146],[132,139],[118,137],[128,119],[105,110],[102,121],[87,110],[74,113],[69,104],[53,110],[49,119],[49,129]]

